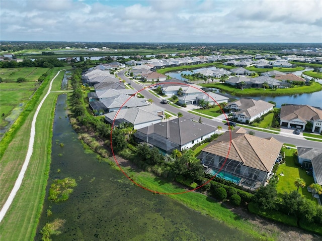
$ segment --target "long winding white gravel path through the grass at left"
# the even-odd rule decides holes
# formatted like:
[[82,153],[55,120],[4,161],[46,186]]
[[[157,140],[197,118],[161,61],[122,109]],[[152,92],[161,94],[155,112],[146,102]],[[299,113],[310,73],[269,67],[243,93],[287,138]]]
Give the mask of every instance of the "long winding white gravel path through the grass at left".
[[19,188],[21,186],[22,180],[24,179],[24,176],[25,176],[25,173],[26,173],[26,170],[27,170],[31,155],[33,153],[35,135],[36,135],[36,119],[37,119],[39,110],[40,110],[42,104],[44,103],[45,99],[47,98],[48,94],[50,93],[52,82],[58,76],[58,74],[61,71],[64,71],[64,70],[65,69],[59,70],[58,73],[55,75],[55,77],[52,78],[52,80],[50,81],[49,89],[48,89],[46,95],[44,96],[44,98],[41,100],[40,104],[37,107],[37,110],[35,112],[35,115],[34,115],[34,117],[32,119],[32,123],[31,123],[30,139],[29,139],[29,146],[28,146],[27,156],[26,156],[25,162],[24,162],[24,164],[22,166],[22,169],[21,169],[21,171],[19,173],[19,176],[18,176],[18,178],[16,180],[15,186],[11,190],[10,195],[9,195],[5,205],[2,207],[2,209],[0,211],[0,222],[2,221],[4,216],[6,215],[10,205],[12,204],[12,202],[13,202],[13,200],[14,200],[14,198],[15,198],[15,196],[16,196],[16,194],[17,194],[17,192],[18,192],[18,190],[19,190]]

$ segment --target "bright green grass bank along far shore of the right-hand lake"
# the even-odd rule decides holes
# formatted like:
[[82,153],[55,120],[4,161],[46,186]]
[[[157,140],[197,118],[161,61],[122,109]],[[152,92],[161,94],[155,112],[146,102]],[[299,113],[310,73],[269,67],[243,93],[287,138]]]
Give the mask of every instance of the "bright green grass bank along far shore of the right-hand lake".
[[295,86],[292,88],[283,88],[283,89],[263,89],[263,88],[248,88],[248,89],[238,89],[233,86],[229,86],[226,84],[220,83],[212,83],[212,84],[200,84],[203,87],[208,88],[217,88],[223,91],[229,92],[230,94],[243,96],[243,95],[291,95],[291,94],[302,94],[302,93],[313,93],[316,91],[320,91],[322,89],[322,85],[313,82],[312,85],[308,86]]

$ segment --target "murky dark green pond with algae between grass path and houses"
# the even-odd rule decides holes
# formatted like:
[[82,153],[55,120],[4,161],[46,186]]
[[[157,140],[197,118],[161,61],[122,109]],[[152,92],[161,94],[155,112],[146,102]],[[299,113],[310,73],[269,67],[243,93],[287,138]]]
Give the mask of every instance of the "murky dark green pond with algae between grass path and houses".
[[[65,101],[66,95],[60,95],[55,110],[47,193],[54,179],[72,177],[77,186],[62,203],[46,196],[35,240],[55,218],[65,224],[53,240],[254,240],[166,195],[135,186],[96,154],[86,154],[65,117]],[[47,217],[49,206],[53,214]]]

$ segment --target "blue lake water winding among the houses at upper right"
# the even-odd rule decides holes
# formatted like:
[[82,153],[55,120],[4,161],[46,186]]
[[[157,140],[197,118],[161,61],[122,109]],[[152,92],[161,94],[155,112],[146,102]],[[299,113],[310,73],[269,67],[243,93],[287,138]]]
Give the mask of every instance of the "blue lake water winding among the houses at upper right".
[[[194,71],[199,71],[205,68],[196,69]],[[215,67],[210,67],[209,69],[216,69]],[[313,70],[312,68],[306,68],[305,70],[301,71],[295,71],[294,74],[300,76],[302,72]],[[171,76],[172,78],[177,78],[181,80],[181,74],[191,74],[190,71],[182,71],[181,73],[178,72],[170,72],[166,75]],[[183,79],[184,80],[184,79]],[[317,82],[322,84],[322,79],[318,79]],[[200,83],[203,83],[200,82]],[[197,84],[197,82],[196,82]],[[265,90],[263,90],[264,92]],[[215,90],[215,92],[219,92],[220,90]],[[253,98],[253,99],[262,99],[264,101],[274,101],[276,102],[276,107],[280,108],[282,104],[288,103],[288,104],[308,104],[311,106],[316,107],[322,107],[322,90],[317,91],[314,93],[305,93],[305,94],[294,94],[294,95],[283,95],[283,96],[267,96],[267,95],[247,95],[243,96],[247,98]],[[240,97],[236,97],[237,99]]]

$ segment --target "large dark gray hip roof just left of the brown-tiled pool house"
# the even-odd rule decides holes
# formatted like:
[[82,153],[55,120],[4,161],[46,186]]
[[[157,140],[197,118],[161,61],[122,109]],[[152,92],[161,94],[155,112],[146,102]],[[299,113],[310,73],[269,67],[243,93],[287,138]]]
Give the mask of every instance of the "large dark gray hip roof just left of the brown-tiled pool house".
[[217,128],[180,117],[172,119],[168,122],[158,123],[141,128],[137,130],[137,132],[141,132],[145,135],[154,133],[173,143],[183,146],[216,130]]

